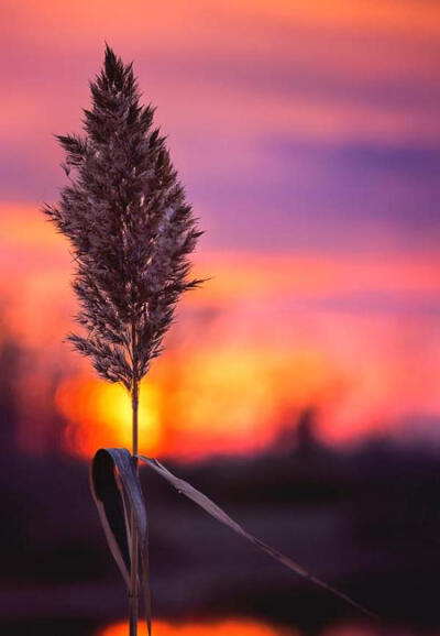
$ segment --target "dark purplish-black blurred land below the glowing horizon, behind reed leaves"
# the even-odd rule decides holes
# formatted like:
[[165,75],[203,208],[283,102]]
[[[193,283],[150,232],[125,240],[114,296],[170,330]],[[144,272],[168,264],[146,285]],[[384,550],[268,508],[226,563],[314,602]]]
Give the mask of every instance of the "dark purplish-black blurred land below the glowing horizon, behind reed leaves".
[[[351,454],[306,450],[173,469],[380,621],[256,552],[144,468],[157,636],[440,633],[438,457],[386,445]],[[125,634],[117,629],[125,592],[87,467],[18,456],[1,470],[1,634]]]

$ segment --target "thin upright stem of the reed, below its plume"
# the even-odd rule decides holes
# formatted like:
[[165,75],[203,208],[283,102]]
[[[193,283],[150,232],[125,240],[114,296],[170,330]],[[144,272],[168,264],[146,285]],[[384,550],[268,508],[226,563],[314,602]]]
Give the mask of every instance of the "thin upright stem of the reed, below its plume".
[[[132,325],[132,351],[133,351],[133,384],[131,391],[132,399],[132,431],[133,431],[133,456],[139,471],[138,462],[138,407],[139,407],[139,381],[138,381],[138,360],[135,355],[135,326]],[[131,590],[130,590],[130,636],[138,636],[138,618],[139,618],[139,537],[138,528],[135,527],[134,514],[131,515]]]

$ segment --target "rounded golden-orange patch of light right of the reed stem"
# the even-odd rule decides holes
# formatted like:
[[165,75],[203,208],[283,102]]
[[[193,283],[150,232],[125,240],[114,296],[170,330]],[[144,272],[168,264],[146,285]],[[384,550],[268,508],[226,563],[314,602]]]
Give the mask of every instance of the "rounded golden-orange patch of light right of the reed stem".
[[186,417],[176,421],[218,443],[229,438],[238,448],[270,441],[286,414],[321,403],[338,383],[337,373],[312,349],[201,350],[187,371],[179,390]]

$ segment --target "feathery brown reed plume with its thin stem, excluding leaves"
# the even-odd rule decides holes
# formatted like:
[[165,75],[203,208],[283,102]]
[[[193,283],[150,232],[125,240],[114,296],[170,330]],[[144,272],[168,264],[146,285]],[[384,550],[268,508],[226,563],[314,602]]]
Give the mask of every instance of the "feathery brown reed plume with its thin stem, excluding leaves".
[[[44,212],[70,242],[80,332],[68,339],[98,374],[131,394],[138,454],[140,381],[162,351],[176,303],[200,281],[188,255],[199,232],[154,109],[140,103],[132,65],[109,46],[90,83],[84,134],[58,135],[69,184]],[[135,460],[136,461],[136,460]],[[131,634],[138,624],[138,544],[133,524]]]

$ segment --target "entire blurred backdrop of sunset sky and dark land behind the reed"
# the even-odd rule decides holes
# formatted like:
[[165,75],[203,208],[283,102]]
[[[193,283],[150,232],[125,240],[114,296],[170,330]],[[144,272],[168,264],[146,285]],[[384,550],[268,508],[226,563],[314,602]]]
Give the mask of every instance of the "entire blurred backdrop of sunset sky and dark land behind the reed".
[[74,263],[38,211],[107,41],[210,277],[142,386],[141,449],[381,616],[144,468],[157,636],[439,634],[440,4],[2,0],[0,34],[2,633],[128,633],[88,467],[130,446],[130,403],[63,343]]

